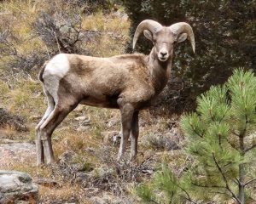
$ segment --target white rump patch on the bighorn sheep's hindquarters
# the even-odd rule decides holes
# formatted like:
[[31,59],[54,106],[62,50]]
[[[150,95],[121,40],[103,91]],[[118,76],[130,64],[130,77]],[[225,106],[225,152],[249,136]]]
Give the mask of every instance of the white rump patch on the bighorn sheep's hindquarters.
[[55,77],[63,78],[69,71],[69,61],[67,59],[67,54],[57,54],[46,65],[44,74],[53,75]]

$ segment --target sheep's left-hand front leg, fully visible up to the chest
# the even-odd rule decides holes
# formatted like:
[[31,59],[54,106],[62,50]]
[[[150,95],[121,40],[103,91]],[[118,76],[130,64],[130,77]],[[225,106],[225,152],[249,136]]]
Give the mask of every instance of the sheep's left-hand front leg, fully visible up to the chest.
[[118,161],[120,161],[125,153],[125,149],[128,143],[128,138],[131,133],[131,122],[134,113],[134,108],[131,104],[125,104],[120,106],[121,121],[122,121],[122,138],[119,146]]

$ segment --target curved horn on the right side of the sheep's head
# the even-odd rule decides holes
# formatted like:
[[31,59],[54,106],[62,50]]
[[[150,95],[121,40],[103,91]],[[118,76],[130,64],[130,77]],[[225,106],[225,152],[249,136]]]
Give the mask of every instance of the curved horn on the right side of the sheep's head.
[[191,43],[193,52],[195,53],[195,37],[194,37],[192,27],[189,26],[189,24],[185,22],[180,22],[180,23],[173,24],[172,26],[169,26],[169,28],[174,34],[177,34],[177,35],[182,32],[187,33],[189,36],[189,41]]

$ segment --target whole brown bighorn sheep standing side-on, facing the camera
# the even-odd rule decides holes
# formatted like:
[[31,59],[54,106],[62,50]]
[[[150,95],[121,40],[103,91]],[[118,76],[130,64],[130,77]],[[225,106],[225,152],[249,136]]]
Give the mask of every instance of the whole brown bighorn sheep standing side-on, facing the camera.
[[96,58],[57,54],[45,63],[39,79],[43,82],[48,108],[36,127],[38,164],[54,161],[51,134],[79,104],[119,109],[122,138],[118,160],[125,152],[129,136],[131,159],[137,156],[138,113],[166,86],[173,47],[188,37],[195,52],[194,33],[187,23],[166,27],[154,20],[143,20],[133,37],[133,48],[142,32],[154,44],[149,55]]

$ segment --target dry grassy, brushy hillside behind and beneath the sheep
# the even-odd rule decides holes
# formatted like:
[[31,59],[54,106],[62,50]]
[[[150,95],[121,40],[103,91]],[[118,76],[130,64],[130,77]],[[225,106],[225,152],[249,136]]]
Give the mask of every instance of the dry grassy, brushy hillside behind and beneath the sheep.
[[151,178],[160,163],[183,171],[189,159],[178,116],[142,111],[137,162],[118,164],[119,111],[85,105],[53,134],[57,164],[36,167],[34,129],[47,106],[38,80],[44,61],[63,50],[124,54],[130,21],[115,4],[61,0],[2,1],[0,21],[0,169],[32,175],[39,203],[139,203],[135,186]]

